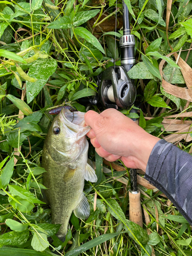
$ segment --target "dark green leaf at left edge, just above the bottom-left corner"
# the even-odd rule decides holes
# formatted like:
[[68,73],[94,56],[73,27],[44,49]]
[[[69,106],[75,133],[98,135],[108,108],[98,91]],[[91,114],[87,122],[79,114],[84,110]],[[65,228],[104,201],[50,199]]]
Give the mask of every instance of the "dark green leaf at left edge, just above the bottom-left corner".
[[28,238],[29,238],[29,230],[25,230],[23,232],[11,231],[8,233],[1,234],[0,244],[19,246],[26,243]]

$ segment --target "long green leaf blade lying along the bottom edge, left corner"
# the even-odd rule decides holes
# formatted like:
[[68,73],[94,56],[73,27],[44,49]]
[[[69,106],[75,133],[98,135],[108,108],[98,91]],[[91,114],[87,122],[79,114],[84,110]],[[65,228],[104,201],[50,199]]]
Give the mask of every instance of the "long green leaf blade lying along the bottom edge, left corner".
[[51,252],[38,252],[34,250],[14,247],[0,248],[0,254],[1,256],[55,256],[55,253]]

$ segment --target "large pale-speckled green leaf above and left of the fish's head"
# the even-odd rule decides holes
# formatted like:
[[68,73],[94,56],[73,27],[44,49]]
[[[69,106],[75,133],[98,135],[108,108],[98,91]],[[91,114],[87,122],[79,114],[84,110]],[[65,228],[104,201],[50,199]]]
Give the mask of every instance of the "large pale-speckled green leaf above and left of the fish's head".
[[[37,59],[29,68],[28,75],[36,78],[36,82],[26,81],[26,94],[28,104],[38,95],[45,86],[49,77],[55,72],[57,61],[53,58]],[[31,113],[30,113],[31,114]]]

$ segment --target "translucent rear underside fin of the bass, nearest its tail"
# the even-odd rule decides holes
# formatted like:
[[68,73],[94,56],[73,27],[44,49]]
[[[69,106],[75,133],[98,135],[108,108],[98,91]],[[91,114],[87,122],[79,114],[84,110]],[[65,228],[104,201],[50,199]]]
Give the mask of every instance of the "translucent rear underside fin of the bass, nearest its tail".
[[90,206],[84,194],[82,194],[79,204],[73,211],[79,219],[86,219],[90,216]]

